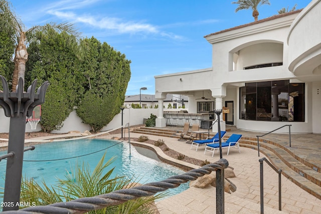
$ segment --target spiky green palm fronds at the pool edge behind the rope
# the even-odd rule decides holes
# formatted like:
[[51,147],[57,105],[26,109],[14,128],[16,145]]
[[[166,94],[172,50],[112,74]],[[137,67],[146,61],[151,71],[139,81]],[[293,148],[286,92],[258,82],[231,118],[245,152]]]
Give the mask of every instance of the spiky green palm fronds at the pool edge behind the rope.
[[[104,193],[113,192],[118,189],[127,188],[135,183],[133,177],[115,176],[110,178],[114,168],[105,172],[114,158],[104,163],[105,154],[99,160],[93,172],[89,165],[76,164],[76,168],[65,175],[65,179],[59,179],[57,185],[42,185],[33,179],[23,180],[21,201],[36,202],[36,205],[47,205],[60,201],[69,201],[80,197],[92,197]],[[109,206],[88,213],[154,213],[156,209],[153,201],[164,197],[166,194],[140,197],[129,200],[119,205]]]

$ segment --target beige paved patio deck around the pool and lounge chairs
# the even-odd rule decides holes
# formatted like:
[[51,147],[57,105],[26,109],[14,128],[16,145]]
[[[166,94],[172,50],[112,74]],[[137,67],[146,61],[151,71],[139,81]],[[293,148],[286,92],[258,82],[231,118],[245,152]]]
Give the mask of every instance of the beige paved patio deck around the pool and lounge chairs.
[[[248,132],[231,127],[230,133],[240,133],[243,136],[256,138],[264,133]],[[131,137],[139,137],[141,134],[130,133]],[[119,135],[118,135],[119,136]],[[220,159],[216,153],[211,157],[210,153],[204,154],[204,146],[195,151],[191,144],[178,141],[176,138],[148,135],[149,139],[163,139],[169,148],[180,153],[214,162]],[[289,143],[288,134],[269,134],[266,140]],[[291,151],[298,156],[321,164],[321,135],[318,134],[292,134]],[[157,151],[158,152],[158,151]],[[260,213],[260,165],[259,159],[266,157],[257,150],[241,147],[241,153],[237,149],[223,149],[223,158],[229,161],[234,168],[235,178],[230,180],[236,184],[237,190],[232,194],[225,193],[225,213]],[[267,158],[268,159],[268,158]],[[179,161],[179,160],[176,160]],[[265,213],[321,213],[321,200],[299,188],[296,184],[282,175],[282,211],[278,210],[278,174],[267,164],[264,165],[264,212]],[[189,188],[188,190],[157,202],[161,214],[170,213],[215,213],[216,193],[214,187],[205,189]]]

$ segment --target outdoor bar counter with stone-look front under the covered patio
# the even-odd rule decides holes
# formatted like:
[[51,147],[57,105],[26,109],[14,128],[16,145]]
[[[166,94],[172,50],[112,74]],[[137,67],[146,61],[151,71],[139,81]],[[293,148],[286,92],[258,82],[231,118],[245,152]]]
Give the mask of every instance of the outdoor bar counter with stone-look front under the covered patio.
[[213,113],[177,113],[164,112],[166,125],[168,126],[184,126],[185,122],[200,124],[202,120],[209,120]]

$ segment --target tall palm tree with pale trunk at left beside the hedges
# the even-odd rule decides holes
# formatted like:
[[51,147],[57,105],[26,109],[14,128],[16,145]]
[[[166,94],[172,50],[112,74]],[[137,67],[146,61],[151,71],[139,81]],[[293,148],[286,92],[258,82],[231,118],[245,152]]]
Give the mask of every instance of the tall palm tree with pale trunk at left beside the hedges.
[[[62,23],[49,23],[44,26],[34,26],[30,29],[26,29],[21,19],[13,12],[11,9],[11,3],[8,3],[6,0],[0,0],[0,31],[1,32],[12,32],[13,39],[16,43],[16,51],[14,58],[14,73],[12,79],[12,91],[16,91],[16,86],[18,84],[18,79],[22,77],[25,79],[26,71],[26,62],[28,60],[27,45],[29,42],[36,39],[35,32],[37,31],[46,31],[55,32],[65,31],[70,35],[78,38],[80,33],[78,33],[72,24]],[[68,42],[68,40],[67,40]]]

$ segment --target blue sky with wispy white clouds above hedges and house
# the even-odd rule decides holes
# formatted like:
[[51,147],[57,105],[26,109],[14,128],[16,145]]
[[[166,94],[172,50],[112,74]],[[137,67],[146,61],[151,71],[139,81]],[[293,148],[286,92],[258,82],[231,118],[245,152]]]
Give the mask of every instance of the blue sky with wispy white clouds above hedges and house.
[[[154,94],[154,76],[210,68],[212,46],[204,36],[253,22],[251,10],[235,13],[236,0],[13,0],[27,28],[74,23],[82,37],[106,42],[131,60],[126,95]],[[270,0],[259,20],[311,0]]]

